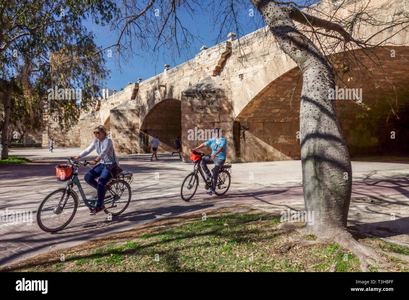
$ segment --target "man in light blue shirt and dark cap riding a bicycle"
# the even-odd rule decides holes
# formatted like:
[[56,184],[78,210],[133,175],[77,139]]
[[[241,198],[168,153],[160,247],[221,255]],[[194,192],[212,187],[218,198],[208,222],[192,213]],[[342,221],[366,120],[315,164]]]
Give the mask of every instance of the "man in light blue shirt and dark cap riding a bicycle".
[[194,149],[191,149],[191,151],[197,151],[198,149],[202,147],[207,147],[207,146],[211,146],[211,149],[212,149],[211,156],[210,158],[209,157],[202,158],[202,161],[200,162],[200,166],[205,171],[206,180],[208,180],[211,174],[210,174],[209,169],[207,168],[207,164],[215,164],[214,169],[213,169],[213,178],[211,180],[211,187],[209,191],[206,192],[208,195],[211,195],[214,193],[214,190],[216,188],[217,174],[219,173],[220,168],[223,166],[223,164],[226,161],[227,141],[225,138],[222,137],[220,128],[214,129],[213,138],[200,144],[200,146]]

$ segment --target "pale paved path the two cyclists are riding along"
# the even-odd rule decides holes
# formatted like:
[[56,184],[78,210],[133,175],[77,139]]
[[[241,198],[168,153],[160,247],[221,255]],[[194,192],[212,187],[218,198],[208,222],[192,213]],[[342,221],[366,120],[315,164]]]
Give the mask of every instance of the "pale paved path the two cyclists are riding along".
[[[50,191],[63,183],[55,179],[55,166],[78,148],[12,149],[10,155],[25,156],[33,163],[0,167],[0,211],[32,211],[33,222],[0,222],[0,267],[40,252],[74,246],[91,238],[124,231],[158,218],[241,203],[288,203],[303,200],[301,162],[279,161],[234,164],[231,187],[222,197],[205,194],[200,183],[190,202],[180,198],[180,184],[193,164],[182,163],[177,155],[119,155],[121,167],[134,171],[132,200],[120,216],[107,220],[105,213],[89,216],[81,202],[72,222],[63,231],[46,233],[36,224],[36,209]],[[96,153],[95,153],[96,156]],[[94,156],[89,156],[93,158]],[[353,162],[353,197],[409,193],[409,165],[403,163]],[[88,167],[79,171],[82,180]],[[159,176],[159,177],[158,177]],[[158,179],[155,179],[158,178]],[[252,178],[252,179],[250,179]],[[83,182],[86,195],[95,190]],[[406,198],[401,202],[405,202]],[[405,202],[405,205],[409,202]],[[54,250],[53,249],[53,250]]]

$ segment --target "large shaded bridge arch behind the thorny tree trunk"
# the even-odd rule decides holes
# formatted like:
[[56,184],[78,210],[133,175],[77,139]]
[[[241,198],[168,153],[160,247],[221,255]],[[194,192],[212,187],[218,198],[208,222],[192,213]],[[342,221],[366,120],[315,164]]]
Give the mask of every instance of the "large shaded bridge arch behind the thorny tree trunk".
[[[393,49],[396,56],[409,59],[409,47]],[[339,73],[343,82],[348,82],[348,77],[352,78],[348,82],[350,88],[362,89],[362,103],[370,108],[367,110],[354,100],[336,100],[339,124],[351,156],[409,153],[405,141],[405,137],[409,136],[409,75],[401,60],[393,60],[390,53],[385,48],[374,53],[383,69],[387,70],[387,78],[373,63],[374,57],[362,54],[364,65],[373,70],[373,76],[380,82],[378,87],[360,80],[358,70]],[[360,57],[359,50],[355,50],[355,55]],[[337,80],[336,86],[348,88],[342,81]],[[270,82],[241,109],[233,127],[235,152],[241,161],[300,158],[297,131],[301,88],[299,69],[292,68]],[[394,139],[391,138],[392,132],[395,132]]]

